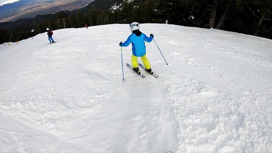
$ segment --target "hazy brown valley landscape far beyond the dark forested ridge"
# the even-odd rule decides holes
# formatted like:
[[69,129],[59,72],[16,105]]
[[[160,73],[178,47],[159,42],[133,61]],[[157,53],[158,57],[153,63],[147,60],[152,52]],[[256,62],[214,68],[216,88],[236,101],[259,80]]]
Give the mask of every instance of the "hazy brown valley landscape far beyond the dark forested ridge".
[[[32,18],[37,15],[55,14],[62,10],[75,10],[85,7],[94,0],[23,0],[2,1],[0,5],[0,21],[16,21],[20,18]],[[1,2],[1,0],[0,0]],[[11,3],[13,2],[13,3]],[[15,3],[16,2],[16,3]],[[5,4],[5,5],[4,5]]]

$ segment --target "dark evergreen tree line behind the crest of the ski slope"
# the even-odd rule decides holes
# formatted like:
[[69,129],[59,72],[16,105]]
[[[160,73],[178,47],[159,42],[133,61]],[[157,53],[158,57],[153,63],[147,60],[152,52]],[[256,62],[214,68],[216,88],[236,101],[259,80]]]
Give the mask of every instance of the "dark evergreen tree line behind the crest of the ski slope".
[[[272,0],[146,0],[136,4],[124,2],[120,10],[92,9],[77,11],[65,18],[37,25],[34,32],[15,33],[21,39],[64,28],[82,28],[111,23],[165,23],[188,27],[214,28],[272,39]],[[0,30],[1,41],[8,42]],[[9,39],[9,38],[8,38]],[[14,42],[14,39],[11,40]],[[3,42],[0,42],[3,43]]]

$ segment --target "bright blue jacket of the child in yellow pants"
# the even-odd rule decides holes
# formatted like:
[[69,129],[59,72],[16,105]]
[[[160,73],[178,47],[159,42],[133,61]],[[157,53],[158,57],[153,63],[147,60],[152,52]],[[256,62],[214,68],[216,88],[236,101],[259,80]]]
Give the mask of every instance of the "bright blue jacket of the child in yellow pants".
[[139,30],[135,30],[125,42],[121,43],[121,46],[126,47],[132,43],[132,54],[136,57],[141,57],[146,54],[144,41],[151,42],[152,40],[153,37],[147,37]]

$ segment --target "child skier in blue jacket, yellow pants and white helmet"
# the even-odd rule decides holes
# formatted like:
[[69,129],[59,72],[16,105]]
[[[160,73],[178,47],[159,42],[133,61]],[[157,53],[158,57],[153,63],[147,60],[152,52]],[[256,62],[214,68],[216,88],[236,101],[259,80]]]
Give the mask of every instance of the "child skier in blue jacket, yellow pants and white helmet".
[[140,32],[140,24],[138,22],[133,22],[130,24],[130,31],[132,32],[132,34],[128,37],[128,39],[124,43],[120,42],[119,45],[126,47],[130,43],[132,43],[131,62],[134,71],[140,74],[137,58],[141,57],[142,62],[147,71],[153,74],[153,71],[151,70],[151,65],[145,55],[146,50],[144,41],[151,42],[153,40],[154,35],[150,34],[150,37],[147,37],[144,33]]

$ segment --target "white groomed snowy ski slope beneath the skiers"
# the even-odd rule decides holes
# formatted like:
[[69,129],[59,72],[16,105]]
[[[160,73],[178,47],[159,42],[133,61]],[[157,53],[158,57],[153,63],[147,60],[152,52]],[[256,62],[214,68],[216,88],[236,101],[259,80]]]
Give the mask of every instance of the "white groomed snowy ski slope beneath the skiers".
[[[272,152],[272,40],[141,24],[156,79],[131,63],[128,24],[0,45],[2,152]],[[139,63],[142,63],[140,58]]]

